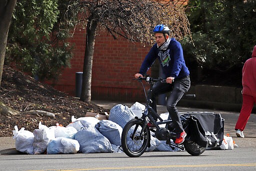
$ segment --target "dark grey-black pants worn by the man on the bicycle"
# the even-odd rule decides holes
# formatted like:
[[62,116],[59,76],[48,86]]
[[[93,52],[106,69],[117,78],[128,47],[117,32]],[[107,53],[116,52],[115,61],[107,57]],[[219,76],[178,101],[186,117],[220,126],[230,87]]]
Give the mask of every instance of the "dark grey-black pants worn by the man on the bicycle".
[[149,98],[151,97],[152,100],[151,107],[156,111],[155,97],[159,94],[171,92],[167,98],[166,107],[169,112],[169,116],[173,121],[173,125],[175,126],[176,133],[181,133],[183,131],[176,104],[183,94],[187,92],[189,87],[190,78],[189,75],[187,75],[185,77],[175,79],[171,84],[166,82],[156,82],[149,95]]

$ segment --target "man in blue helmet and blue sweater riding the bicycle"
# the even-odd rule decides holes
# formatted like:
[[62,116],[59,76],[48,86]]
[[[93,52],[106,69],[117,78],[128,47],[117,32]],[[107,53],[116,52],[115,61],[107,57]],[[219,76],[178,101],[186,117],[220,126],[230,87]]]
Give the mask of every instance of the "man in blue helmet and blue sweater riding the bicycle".
[[156,111],[155,97],[171,91],[166,107],[173,121],[175,133],[177,133],[175,143],[180,144],[184,141],[186,132],[182,128],[176,104],[190,87],[189,70],[185,65],[181,44],[174,37],[169,37],[170,29],[166,25],[158,24],[154,27],[153,33],[156,43],[145,56],[139,72],[134,77],[143,77],[154,60],[159,59],[166,82],[156,82],[153,85],[150,93],[151,107]]

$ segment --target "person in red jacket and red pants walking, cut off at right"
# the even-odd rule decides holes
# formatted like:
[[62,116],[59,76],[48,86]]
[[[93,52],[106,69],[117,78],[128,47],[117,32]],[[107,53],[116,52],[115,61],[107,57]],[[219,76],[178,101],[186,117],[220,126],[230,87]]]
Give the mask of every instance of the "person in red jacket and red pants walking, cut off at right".
[[244,137],[243,130],[254,103],[256,103],[256,45],[251,58],[245,61],[242,68],[242,107],[235,124],[237,137]]

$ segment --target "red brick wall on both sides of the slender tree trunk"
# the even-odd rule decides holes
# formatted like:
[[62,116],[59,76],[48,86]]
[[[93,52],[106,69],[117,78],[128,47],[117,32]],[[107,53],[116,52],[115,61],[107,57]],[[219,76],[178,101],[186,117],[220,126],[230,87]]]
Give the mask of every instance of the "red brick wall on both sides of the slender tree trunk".
[[[52,85],[74,96],[75,72],[83,68],[85,30],[77,29],[70,42],[74,43],[71,68],[65,68],[60,79]],[[143,101],[142,86],[132,78],[149,48],[149,45],[143,47],[140,43],[132,43],[121,37],[114,40],[106,33],[97,35],[92,65],[92,99],[139,101],[142,98]]]

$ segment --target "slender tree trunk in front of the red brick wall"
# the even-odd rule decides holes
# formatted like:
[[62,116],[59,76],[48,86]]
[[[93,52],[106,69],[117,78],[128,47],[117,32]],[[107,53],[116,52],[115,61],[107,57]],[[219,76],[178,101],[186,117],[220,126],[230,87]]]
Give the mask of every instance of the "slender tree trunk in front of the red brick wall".
[[[92,18],[92,17],[90,17]],[[89,19],[86,29],[86,46],[83,60],[83,75],[80,100],[90,102],[91,99],[91,74],[92,59],[96,37],[97,20]]]

